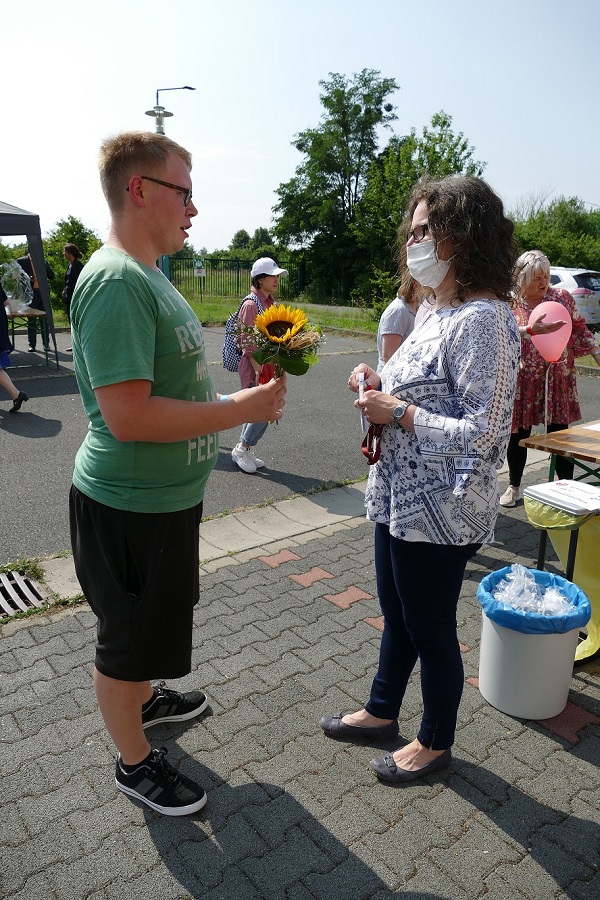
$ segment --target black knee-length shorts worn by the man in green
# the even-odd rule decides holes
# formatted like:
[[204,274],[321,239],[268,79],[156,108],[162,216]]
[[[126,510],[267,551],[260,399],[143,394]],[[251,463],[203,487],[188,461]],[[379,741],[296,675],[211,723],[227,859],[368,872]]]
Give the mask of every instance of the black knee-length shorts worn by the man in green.
[[75,571],[98,618],[98,671],[121,681],[187,675],[202,503],[173,513],[124,512],[72,485],[69,512]]

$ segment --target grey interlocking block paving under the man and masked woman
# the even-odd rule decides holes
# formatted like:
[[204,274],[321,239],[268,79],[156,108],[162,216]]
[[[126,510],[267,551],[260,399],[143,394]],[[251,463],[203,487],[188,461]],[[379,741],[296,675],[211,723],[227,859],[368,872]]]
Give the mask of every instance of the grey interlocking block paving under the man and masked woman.
[[[527,468],[545,480],[547,464]],[[194,671],[212,714],[149,735],[208,791],[169,819],[114,786],[91,685],[85,604],[0,626],[0,897],[10,900],[581,898],[600,894],[600,665],[573,673],[563,714],[511,718],[477,689],[484,574],[534,565],[522,504],[469,563],[459,605],[465,690],[452,767],[401,788],[369,760],[391,745],[323,736],[362,705],[380,637],[362,486],[202,526]],[[75,596],[70,558],[44,563]],[[551,566],[550,566],[551,567]],[[165,598],[165,608],[169,600]],[[160,627],[160,623],[157,623]],[[401,713],[411,739],[418,676]]]

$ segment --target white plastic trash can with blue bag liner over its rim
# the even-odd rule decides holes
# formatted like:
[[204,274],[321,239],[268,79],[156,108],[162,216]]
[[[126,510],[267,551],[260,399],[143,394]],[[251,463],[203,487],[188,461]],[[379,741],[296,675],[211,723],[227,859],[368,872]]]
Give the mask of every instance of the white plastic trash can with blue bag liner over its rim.
[[479,690],[509,716],[550,719],[567,705],[579,629],[590,618],[590,603],[566,578],[530,569],[542,588],[558,588],[574,608],[561,616],[514,609],[493,597],[509,571],[506,566],[492,572],[477,588],[482,608]]

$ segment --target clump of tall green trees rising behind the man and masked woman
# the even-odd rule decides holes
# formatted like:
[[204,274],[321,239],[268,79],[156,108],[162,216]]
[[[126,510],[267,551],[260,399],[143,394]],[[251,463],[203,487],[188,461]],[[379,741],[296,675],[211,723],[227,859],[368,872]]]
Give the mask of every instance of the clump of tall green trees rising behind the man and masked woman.
[[479,175],[484,163],[443,111],[420,137],[415,129],[393,135],[379,152],[382,129],[397,119],[388,100],[398,89],[393,78],[363,69],[319,84],[321,123],[292,142],[304,158],[277,189],[274,232],[303,251],[316,296],[369,296],[376,273],[394,270],[398,224],[419,178]]

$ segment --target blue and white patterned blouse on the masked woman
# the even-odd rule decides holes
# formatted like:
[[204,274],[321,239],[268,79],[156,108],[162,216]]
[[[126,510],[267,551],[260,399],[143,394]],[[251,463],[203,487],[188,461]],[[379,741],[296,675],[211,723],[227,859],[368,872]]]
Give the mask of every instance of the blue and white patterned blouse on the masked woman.
[[415,432],[383,429],[367,518],[405,541],[493,538],[521,340],[507,303],[470,300],[429,313],[381,373],[386,394],[417,405]]

